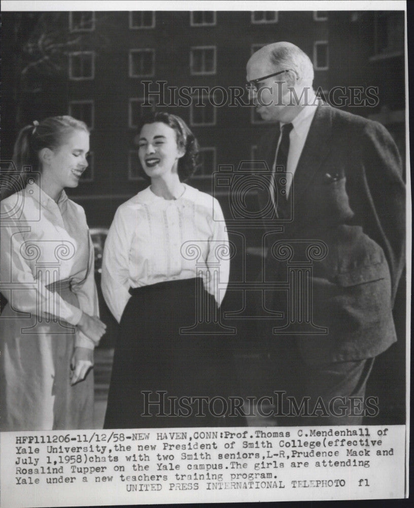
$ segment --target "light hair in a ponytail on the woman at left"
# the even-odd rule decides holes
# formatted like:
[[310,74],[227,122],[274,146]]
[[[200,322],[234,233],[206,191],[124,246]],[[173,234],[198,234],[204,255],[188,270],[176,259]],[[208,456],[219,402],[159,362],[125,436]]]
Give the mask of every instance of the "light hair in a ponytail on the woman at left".
[[13,163],[2,178],[2,199],[24,188],[33,173],[42,171],[39,161],[42,148],[58,148],[74,131],[89,134],[86,123],[68,115],[52,116],[23,127],[14,144]]

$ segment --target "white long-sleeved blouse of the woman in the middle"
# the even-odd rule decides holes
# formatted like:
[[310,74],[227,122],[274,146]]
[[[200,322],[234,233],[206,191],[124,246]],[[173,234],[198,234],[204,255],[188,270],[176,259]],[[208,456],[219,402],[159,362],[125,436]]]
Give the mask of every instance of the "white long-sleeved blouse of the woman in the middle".
[[215,198],[184,185],[176,200],[147,187],[115,213],[103,251],[102,292],[118,322],[129,288],[200,276],[219,305],[224,298],[230,261],[223,212]]

